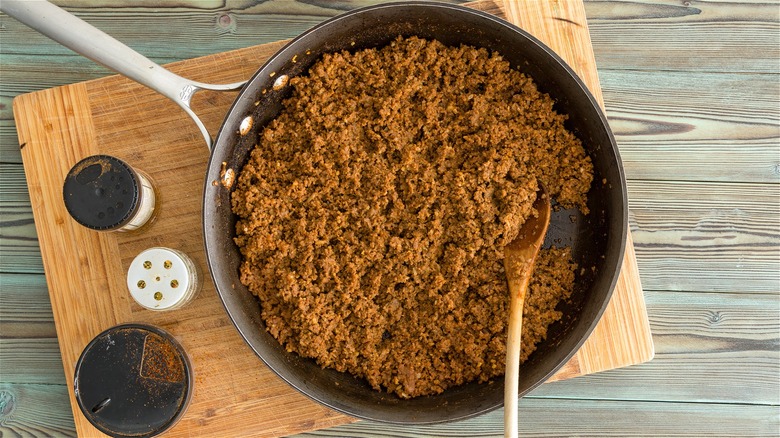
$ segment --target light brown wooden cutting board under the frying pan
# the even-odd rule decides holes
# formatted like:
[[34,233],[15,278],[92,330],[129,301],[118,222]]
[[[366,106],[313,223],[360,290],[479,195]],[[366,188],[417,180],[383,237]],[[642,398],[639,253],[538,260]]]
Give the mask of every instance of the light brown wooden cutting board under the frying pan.
[[[581,0],[484,0],[470,6],[507,18],[560,54],[602,102]],[[171,64],[194,80],[247,79],[284,42]],[[235,93],[206,93],[194,107],[211,132]],[[603,103],[602,103],[603,106]],[[206,271],[200,202],[208,153],[190,119],[175,104],[119,76],[35,93],[14,100],[19,141],[35,225],[69,384],[79,354],[98,333],[124,322],[171,332],[189,353],[195,391],[182,420],[167,436],[278,436],[354,419],[310,401],[276,377],[240,338],[210,279],[194,302],[173,312],[137,305],[125,286],[127,268],[143,249],[167,246]],[[81,158],[106,153],[151,174],[160,190],[156,221],[141,233],[89,231],[62,202],[66,173]],[[629,235],[614,298],[593,335],[552,380],[648,361],[653,343]],[[99,435],[70,392],[80,435]]]

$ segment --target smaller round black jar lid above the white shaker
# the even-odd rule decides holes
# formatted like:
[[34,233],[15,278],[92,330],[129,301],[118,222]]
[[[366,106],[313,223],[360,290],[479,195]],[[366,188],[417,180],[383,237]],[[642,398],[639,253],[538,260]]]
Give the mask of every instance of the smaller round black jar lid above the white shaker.
[[124,161],[93,155],[68,172],[62,195],[76,222],[93,230],[120,228],[138,211],[140,181]]

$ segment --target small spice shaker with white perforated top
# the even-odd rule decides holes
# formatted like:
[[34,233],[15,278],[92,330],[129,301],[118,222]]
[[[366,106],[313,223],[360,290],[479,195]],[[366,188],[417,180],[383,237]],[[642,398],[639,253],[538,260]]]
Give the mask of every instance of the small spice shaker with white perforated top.
[[136,256],[127,271],[127,288],[141,306],[170,310],[188,303],[200,289],[195,264],[170,248],[149,248]]

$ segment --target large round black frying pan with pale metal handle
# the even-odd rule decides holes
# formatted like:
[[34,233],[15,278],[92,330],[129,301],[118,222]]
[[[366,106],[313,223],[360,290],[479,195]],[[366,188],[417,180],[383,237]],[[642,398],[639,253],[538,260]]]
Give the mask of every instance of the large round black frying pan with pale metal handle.
[[[12,0],[4,0],[0,5],[3,12],[25,24],[171,98],[193,116],[211,145],[208,132],[189,109],[189,99],[199,88],[230,89],[240,84],[209,86],[186,81],[130,49],[117,48],[118,42],[86,23],[66,17],[66,13],[58,15],[63,13],[61,10],[48,5],[43,17],[35,12],[39,7],[38,2]],[[55,15],[57,18],[52,18]],[[88,35],[85,39],[89,44],[78,35]],[[390,3],[335,17],[281,49],[246,83],[217,134],[205,179],[203,237],[209,269],[225,310],[250,347],[281,378],[320,403],[349,415],[394,423],[436,423],[479,415],[501,406],[502,379],[402,400],[374,391],[361,379],[322,369],[313,360],[287,353],[266,332],[259,302],[239,281],[240,255],[233,243],[236,218],[230,210],[230,184],[219,183],[225,172],[235,174],[241,169],[260,130],[280,111],[290,90],[273,90],[279,76],[305,74],[323,53],[382,46],[398,35],[498,51],[555,100],[557,111],[569,115],[567,128],[582,140],[593,160],[594,184],[588,193],[591,213],[583,217],[576,210],[555,212],[547,244],[571,246],[579,265],[594,269],[585,269],[584,274],[578,275],[571,302],[561,309],[566,316],[549,329],[547,340],[522,366],[521,394],[540,385],[574,355],[604,312],[617,282],[628,222],[622,165],[604,114],[574,72],[538,40],[486,13],[440,3]],[[104,46],[111,50],[99,50]],[[241,135],[239,127],[247,116],[254,123],[249,133]],[[602,180],[607,184],[602,184]],[[218,183],[214,185],[213,181]],[[575,221],[571,220],[572,215],[576,216]]]

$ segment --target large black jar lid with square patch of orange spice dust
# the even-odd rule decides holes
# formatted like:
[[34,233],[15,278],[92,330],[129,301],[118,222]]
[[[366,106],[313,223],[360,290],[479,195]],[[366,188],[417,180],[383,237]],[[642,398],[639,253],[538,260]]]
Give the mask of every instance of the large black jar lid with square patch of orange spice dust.
[[97,335],[76,363],[76,400],[84,416],[114,437],[151,437],[184,414],[192,374],[167,332],[123,324]]

